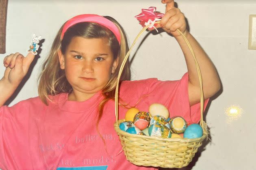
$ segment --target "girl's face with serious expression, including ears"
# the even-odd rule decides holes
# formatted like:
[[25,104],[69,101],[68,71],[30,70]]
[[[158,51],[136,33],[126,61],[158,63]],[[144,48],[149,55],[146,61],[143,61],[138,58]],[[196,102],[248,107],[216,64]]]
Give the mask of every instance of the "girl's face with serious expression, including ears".
[[105,38],[73,37],[65,54],[59,50],[59,62],[73,88],[69,100],[76,101],[89,99],[102,90],[117,67]]

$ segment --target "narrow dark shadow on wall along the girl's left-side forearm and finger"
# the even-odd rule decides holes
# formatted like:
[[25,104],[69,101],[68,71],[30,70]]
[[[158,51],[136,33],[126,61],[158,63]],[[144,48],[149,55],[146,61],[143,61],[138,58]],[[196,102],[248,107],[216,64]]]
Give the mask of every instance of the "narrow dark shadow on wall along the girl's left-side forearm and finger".
[[15,90],[13,95],[4,103],[4,105],[9,105],[15,99],[15,97],[20,93],[20,90],[23,88],[24,84],[29,79],[29,77],[32,73],[32,70],[35,67],[36,63],[37,63],[37,60],[40,58],[40,53],[42,51],[41,47],[42,47],[42,44],[43,44],[44,41],[45,41],[45,39],[41,39],[40,42],[38,43],[39,49],[37,50],[37,55],[35,56],[34,60],[32,61],[31,65],[28,69],[28,73],[25,75],[23,80],[20,82],[20,85],[18,86],[18,88]]

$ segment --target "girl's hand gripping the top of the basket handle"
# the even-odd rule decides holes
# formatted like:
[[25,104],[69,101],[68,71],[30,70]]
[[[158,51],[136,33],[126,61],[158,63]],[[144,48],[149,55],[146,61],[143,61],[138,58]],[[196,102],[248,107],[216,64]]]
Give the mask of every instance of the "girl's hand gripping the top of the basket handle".
[[174,6],[174,0],[162,0],[161,2],[166,4],[165,15],[156,28],[163,28],[163,30],[171,33],[174,37],[180,36],[180,33],[177,31],[179,29],[186,36],[187,24],[185,17],[180,9]]

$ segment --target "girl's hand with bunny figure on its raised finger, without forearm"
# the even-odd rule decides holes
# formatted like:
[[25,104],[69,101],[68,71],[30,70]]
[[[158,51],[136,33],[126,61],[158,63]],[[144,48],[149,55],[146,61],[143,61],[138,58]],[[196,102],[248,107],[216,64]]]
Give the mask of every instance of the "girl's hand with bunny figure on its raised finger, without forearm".
[[4,67],[6,67],[6,69],[1,81],[3,81],[4,84],[8,84],[10,88],[16,89],[28,72],[28,68],[34,58],[35,55],[32,53],[28,53],[26,58],[20,53],[6,56],[4,58]]

